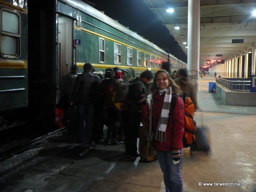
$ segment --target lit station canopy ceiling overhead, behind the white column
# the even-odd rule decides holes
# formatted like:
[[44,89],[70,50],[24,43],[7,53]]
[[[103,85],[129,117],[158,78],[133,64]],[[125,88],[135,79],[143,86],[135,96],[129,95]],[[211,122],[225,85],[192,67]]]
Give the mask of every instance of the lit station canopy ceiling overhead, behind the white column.
[[[187,54],[188,0],[142,1]],[[167,12],[171,7],[173,12]],[[245,50],[252,51],[252,46],[256,46],[254,10],[255,0],[200,1],[200,67],[206,60],[228,60]]]

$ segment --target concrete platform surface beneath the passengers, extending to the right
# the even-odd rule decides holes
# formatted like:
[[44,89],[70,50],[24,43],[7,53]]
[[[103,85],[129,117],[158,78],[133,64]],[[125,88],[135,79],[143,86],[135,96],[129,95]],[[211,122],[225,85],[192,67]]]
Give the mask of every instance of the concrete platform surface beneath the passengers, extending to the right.
[[[208,92],[209,81],[214,78],[199,79],[200,110],[195,113],[195,120],[198,126],[210,130],[211,153],[192,151],[191,156],[189,149],[184,148],[181,168],[184,192],[253,191],[256,108],[223,106],[215,93]],[[158,160],[129,158],[124,153],[124,143],[97,144],[87,152],[73,137],[62,135],[31,150],[36,151],[33,158],[3,173],[0,191],[165,191]],[[26,159],[26,154],[21,155]],[[3,169],[4,164],[1,166]],[[230,186],[204,186],[214,183]]]

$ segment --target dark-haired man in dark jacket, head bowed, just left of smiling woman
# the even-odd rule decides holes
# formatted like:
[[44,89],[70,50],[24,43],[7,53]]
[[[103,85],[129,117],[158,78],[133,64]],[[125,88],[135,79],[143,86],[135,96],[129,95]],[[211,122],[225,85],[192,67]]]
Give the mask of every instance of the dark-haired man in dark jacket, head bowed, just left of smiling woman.
[[124,102],[122,109],[122,119],[125,135],[125,153],[130,157],[139,156],[137,153],[137,138],[139,137],[140,126],[140,100],[141,95],[147,97],[147,84],[153,79],[151,71],[146,70],[136,77],[129,86],[127,100]]

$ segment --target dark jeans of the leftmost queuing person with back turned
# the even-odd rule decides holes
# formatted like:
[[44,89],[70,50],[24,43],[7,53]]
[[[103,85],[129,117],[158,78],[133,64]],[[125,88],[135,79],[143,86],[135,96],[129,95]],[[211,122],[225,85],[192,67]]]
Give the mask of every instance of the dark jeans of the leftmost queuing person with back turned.
[[79,141],[90,143],[92,139],[92,124],[94,107],[91,103],[78,104],[79,111]]

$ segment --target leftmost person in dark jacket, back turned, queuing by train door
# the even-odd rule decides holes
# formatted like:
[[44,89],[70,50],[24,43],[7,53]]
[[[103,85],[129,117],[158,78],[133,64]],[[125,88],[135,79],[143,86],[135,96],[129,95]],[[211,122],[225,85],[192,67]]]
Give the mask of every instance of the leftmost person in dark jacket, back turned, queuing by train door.
[[79,142],[84,146],[92,146],[92,124],[95,98],[99,95],[101,79],[92,73],[92,64],[84,64],[84,72],[76,77],[75,87],[70,105],[77,103],[79,111]]

